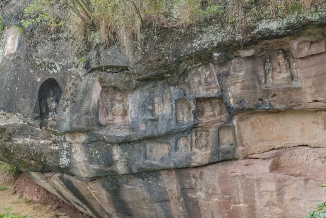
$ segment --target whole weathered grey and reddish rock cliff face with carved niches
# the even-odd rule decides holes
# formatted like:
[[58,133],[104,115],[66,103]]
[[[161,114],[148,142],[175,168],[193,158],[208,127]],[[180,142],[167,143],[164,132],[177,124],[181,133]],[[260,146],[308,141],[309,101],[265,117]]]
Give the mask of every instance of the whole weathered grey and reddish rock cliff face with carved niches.
[[214,25],[147,33],[132,62],[8,25],[0,160],[93,217],[302,217],[326,179],[324,17],[242,48]]

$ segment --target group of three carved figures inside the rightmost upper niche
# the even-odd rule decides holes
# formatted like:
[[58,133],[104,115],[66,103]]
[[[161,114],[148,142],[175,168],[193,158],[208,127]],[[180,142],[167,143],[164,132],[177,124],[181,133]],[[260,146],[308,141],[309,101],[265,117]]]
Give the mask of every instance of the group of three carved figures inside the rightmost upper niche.
[[[295,60],[293,56],[285,57],[284,51],[279,50],[275,57],[277,58],[276,73],[273,75],[273,67],[270,54],[266,55],[264,69],[258,71],[260,85],[282,85],[299,80]],[[289,60],[290,59],[290,60]]]

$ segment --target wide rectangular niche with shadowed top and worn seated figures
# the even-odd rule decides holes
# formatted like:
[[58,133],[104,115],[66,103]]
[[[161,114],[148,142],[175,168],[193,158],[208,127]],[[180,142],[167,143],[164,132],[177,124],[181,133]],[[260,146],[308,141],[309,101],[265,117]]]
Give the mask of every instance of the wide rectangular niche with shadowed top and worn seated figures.
[[200,121],[222,121],[227,109],[222,98],[196,98],[196,113]]

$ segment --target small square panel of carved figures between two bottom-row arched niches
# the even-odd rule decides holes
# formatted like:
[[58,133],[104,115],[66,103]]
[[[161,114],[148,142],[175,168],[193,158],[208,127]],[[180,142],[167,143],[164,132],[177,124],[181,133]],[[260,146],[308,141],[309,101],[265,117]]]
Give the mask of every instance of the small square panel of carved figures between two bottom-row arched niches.
[[211,150],[211,137],[208,128],[197,129],[192,133],[192,150],[200,152]]

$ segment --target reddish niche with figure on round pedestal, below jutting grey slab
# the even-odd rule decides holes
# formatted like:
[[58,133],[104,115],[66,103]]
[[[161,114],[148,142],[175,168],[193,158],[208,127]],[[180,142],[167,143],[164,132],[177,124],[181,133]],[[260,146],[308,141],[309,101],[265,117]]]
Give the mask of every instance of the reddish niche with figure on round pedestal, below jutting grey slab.
[[103,88],[99,97],[98,119],[100,124],[128,124],[128,93],[117,87]]

